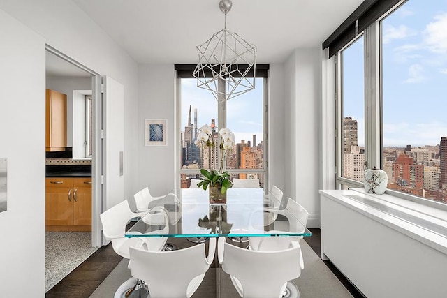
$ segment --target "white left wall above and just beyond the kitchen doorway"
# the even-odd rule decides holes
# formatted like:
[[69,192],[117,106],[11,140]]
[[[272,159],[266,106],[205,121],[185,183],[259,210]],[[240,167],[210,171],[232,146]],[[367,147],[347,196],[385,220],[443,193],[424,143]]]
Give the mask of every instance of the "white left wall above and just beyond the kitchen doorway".
[[124,195],[133,195],[138,161],[133,145],[138,137],[138,65],[70,0],[0,0],[0,9],[36,31],[48,45],[124,85]]

